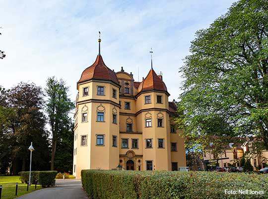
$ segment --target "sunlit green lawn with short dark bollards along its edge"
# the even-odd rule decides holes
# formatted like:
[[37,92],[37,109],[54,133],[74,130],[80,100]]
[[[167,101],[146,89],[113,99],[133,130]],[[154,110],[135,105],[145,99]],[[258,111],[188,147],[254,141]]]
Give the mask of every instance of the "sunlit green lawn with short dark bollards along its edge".
[[[18,183],[18,194],[15,196],[16,183]],[[0,176],[0,185],[2,186],[2,198],[1,199],[14,199],[21,195],[35,191],[35,185],[29,186],[27,192],[27,184],[22,184],[19,180],[19,176]],[[36,190],[42,189],[40,185],[37,185]]]

